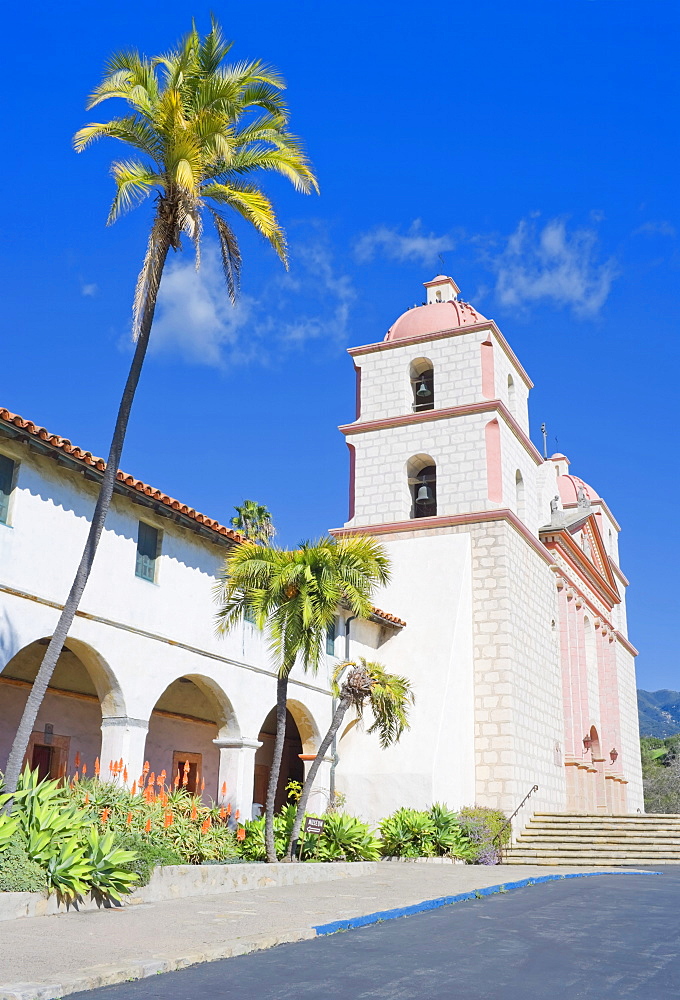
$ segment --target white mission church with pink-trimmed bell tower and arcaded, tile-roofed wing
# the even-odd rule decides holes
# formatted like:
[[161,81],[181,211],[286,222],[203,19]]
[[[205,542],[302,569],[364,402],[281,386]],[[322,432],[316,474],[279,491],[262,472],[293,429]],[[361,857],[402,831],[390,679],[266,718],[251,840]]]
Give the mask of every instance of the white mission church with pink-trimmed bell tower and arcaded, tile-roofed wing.
[[[452,279],[384,340],[350,349],[356,419],[350,512],[392,561],[367,621],[338,609],[326,670],[296,667],[284,774],[301,778],[330,722],[344,658],[410,677],[416,704],[381,751],[348,718],[324,761],[331,787],[376,821],[401,805],[477,803],[520,815],[644,809],[635,649],[619,526],[605,500],[529,437],[531,382],[496,324]],[[0,768],[56,622],[94,506],[100,459],[0,409]],[[42,773],[129,783],[185,765],[241,815],[264,797],[275,672],[248,622],[214,628],[213,588],[238,536],[118,475],[92,578],[29,747]],[[389,611],[381,610],[388,608]],[[111,770],[109,770],[111,768]]]

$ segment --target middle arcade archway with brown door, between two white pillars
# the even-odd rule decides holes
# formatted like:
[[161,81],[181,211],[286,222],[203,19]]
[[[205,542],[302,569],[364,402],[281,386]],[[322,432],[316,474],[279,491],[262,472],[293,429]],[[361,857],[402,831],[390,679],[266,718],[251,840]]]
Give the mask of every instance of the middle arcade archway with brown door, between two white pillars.
[[156,702],[149,719],[144,758],[154,774],[192,795],[217,801],[219,748],[213,740],[238,736],[231,703],[211,678],[178,677]]

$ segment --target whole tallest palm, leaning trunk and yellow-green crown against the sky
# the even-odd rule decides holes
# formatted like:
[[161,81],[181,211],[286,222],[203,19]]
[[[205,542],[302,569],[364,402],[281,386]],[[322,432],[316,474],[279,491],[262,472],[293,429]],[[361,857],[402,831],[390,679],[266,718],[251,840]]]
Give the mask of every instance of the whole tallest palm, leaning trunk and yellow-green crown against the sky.
[[[86,125],[74,137],[80,152],[95,139],[118,139],[134,154],[116,160],[113,223],[150,194],[156,207],[134,296],[136,347],[116,418],[106,470],[85,548],[54,634],[24,708],[7,762],[5,786],[16,789],[38,709],[78,608],[111,503],[125,432],[153,321],[161,275],[170,249],[186,235],[200,261],[205,211],[217,231],[227,289],[235,300],[241,256],[223,209],[249,222],[286,263],[286,241],[274,207],[249,179],[258,171],[286,177],[298,191],[317,188],[300,141],[287,128],[279,74],[259,61],[225,65],[231,43],[218,24],[201,37],[195,26],[166,55],[149,59],[137,52],[114,55],[88,108],[119,98],[129,112],[108,122]],[[141,155],[140,155],[141,154]],[[213,204],[214,203],[214,204]]]

